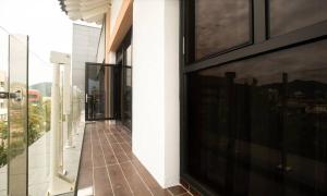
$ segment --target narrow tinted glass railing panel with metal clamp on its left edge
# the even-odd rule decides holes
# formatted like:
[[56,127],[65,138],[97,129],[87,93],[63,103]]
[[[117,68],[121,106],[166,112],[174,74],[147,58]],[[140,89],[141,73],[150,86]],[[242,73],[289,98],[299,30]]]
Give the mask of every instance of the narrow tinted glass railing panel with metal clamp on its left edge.
[[9,195],[27,195],[27,36],[10,36]]

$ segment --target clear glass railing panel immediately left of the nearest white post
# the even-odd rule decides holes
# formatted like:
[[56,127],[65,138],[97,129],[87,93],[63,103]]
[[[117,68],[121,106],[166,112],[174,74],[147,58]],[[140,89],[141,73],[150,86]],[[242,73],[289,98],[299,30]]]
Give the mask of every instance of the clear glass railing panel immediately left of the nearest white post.
[[31,50],[28,54],[28,194],[47,195],[52,66]]

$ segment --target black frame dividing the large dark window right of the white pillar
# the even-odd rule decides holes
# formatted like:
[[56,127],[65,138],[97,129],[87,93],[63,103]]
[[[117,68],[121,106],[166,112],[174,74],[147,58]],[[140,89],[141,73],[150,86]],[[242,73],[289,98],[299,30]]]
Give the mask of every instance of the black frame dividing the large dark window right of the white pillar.
[[311,26],[305,26],[284,35],[269,36],[269,10],[268,0],[252,0],[252,36],[251,45],[233,48],[232,50],[205,59],[190,62],[190,53],[194,52],[190,46],[194,46],[192,35],[190,36],[190,1],[180,1],[180,177],[197,191],[206,195],[215,195],[210,187],[202,184],[191,176],[186,171],[187,166],[187,76],[191,73],[220,66],[233,61],[253,58],[299,45],[313,42],[327,38],[327,21]]

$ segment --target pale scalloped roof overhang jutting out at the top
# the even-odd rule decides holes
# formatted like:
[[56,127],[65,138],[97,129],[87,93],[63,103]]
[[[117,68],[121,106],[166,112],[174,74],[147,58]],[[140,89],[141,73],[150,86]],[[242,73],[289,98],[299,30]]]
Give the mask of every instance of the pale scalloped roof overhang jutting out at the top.
[[58,0],[61,10],[73,20],[102,24],[105,13],[111,7],[111,0]]

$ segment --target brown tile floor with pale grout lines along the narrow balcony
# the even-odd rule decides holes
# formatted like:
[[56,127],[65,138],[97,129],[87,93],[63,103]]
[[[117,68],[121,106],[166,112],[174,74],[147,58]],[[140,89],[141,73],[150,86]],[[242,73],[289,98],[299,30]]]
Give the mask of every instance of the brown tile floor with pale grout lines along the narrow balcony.
[[119,125],[86,125],[77,195],[192,195],[183,186],[162,189],[132,154],[131,133]]

